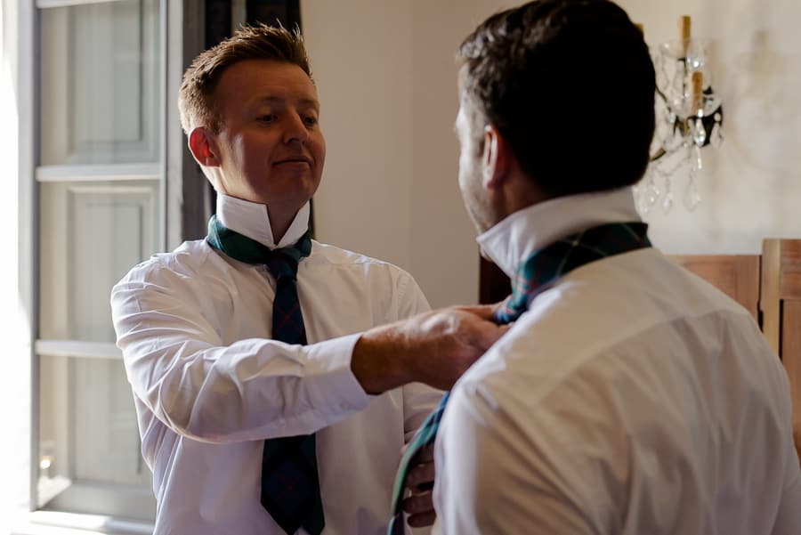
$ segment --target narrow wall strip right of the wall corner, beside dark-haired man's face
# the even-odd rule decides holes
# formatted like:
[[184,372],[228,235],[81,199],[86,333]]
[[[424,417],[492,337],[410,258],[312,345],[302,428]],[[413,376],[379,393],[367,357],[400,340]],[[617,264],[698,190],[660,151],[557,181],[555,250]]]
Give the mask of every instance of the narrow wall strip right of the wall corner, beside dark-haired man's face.
[[[415,0],[410,272],[433,306],[478,300],[478,246],[457,184],[458,45],[510,2]],[[457,7],[455,7],[457,6]]]

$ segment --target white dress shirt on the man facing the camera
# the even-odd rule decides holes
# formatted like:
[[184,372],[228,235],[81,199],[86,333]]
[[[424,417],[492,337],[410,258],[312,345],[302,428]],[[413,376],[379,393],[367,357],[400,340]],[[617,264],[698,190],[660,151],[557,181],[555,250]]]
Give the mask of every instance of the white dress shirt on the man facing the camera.
[[[225,226],[274,247],[266,207],[218,199]],[[307,206],[279,246],[308,217]],[[428,304],[400,268],[316,241],[297,280],[305,346],[270,339],[275,280],[263,266],[205,240],[154,255],[113,289],[156,535],[283,534],[259,501],[263,439],[315,432],[323,533],[385,531],[401,449],[441,393],[406,385],[368,396],[351,371],[353,333]]]

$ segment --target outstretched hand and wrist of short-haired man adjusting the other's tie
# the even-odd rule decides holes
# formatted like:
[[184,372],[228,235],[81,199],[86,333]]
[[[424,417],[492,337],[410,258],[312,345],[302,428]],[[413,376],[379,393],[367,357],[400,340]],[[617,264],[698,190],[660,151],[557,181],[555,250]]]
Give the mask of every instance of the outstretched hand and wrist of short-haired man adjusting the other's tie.
[[448,390],[506,331],[492,321],[495,305],[425,312],[365,332],[351,369],[368,393],[411,382]]

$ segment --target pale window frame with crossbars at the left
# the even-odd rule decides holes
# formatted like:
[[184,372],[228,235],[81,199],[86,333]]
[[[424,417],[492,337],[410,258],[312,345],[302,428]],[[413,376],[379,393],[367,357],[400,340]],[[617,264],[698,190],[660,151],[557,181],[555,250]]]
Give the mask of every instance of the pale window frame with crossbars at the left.
[[[183,239],[186,222],[182,215],[184,205],[184,182],[194,173],[188,164],[185,141],[181,131],[178,112],[174,106],[175,95],[181,85],[187,58],[193,58],[203,45],[202,0],[161,0],[160,34],[162,57],[165,59],[163,80],[166,99],[159,102],[159,128],[161,129],[164,156],[154,165],[131,166],[39,166],[36,167],[36,133],[38,131],[38,112],[36,103],[39,35],[37,31],[40,9],[95,4],[119,0],[0,0],[13,2],[17,10],[16,30],[19,36],[17,94],[19,113],[19,293],[20,304],[28,317],[28,332],[20,336],[28,339],[28,358],[30,361],[30,456],[28,460],[29,480],[27,482],[28,513],[12,522],[12,535],[56,535],[65,533],[65,528],[75,535],[129,533],[131,535],[150,534],[151,523],[131,522],[105,515],[82,515],[68,512],[36,510],[38,501],[37,482],[38,462],[38,420],[39,420],[39,357],[37,355],[56,355],[99,359],[121,359],[122,355],[113,344],[77,342],[74,340],[36,340],[38,315],[38,282],[36,273],[39,266],[38,253],[38,186],[43,182],[63,181],[80,176],[83,180],[140,180],[164,177],[160,186],[160,200],[165,205],[162,210],[161,249],[177,247]],[[187,30],[189,22],[190,29]],[[168,28],[172,28],[167,31]],[[166,47],[166,53],[165,53]],[[167,105],[169,101],[170,105]],[[194,200],[197,203],[197,200]],[[197,209],[197,207],[194,207]],[[20,482],[24,484],[25,482]]]

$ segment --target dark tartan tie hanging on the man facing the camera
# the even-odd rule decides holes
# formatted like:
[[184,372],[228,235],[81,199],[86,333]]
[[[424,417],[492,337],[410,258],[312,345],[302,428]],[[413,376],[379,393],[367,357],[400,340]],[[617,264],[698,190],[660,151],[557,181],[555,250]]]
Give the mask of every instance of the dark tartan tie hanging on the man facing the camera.
[[[264,264],[275,277],[272,337],[287,344],[306,344],[303,313],[297,298],[297,266],[312,252],[310,232],[294,247],[270,249],[231,231],[213,215],[208,222],[209,245],[240,262]],[[262,505],[287,535],[301,526],[311,535],[325,527],[314,434],[264,441]]]

